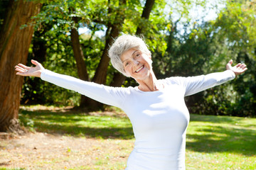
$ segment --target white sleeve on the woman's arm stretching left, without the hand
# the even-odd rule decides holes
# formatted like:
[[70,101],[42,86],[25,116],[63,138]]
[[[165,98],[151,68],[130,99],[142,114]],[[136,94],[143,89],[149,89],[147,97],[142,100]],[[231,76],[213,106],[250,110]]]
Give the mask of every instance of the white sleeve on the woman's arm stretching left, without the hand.
[[58,74],[45,69],[41,73],[41,79],[65,89],[73,90],[107,105],[121,107],[129,92],[127,88],[110,87],[89,81],[82,81],[75,77]]

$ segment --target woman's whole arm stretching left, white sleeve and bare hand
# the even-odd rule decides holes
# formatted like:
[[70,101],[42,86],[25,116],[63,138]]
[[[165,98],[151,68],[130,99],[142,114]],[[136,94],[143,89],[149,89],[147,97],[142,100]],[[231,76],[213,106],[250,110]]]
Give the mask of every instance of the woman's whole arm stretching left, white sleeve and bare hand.
[[114,88],[89,81],[82,81],[75,77],[50,72],[50,70],[44,69],[43,66],[35,60],[31,60],[31,62],[35,64],[36,67],[27,67],[23,64],[18,64],[15,67],[17,71],[16,74],[23,77],[41,77],[44,81],[48,81],[65,89],[77,91],[96,101],[119,108],[121,108],[124,99],[127,94],[129,94],[129,89],[127,88]]

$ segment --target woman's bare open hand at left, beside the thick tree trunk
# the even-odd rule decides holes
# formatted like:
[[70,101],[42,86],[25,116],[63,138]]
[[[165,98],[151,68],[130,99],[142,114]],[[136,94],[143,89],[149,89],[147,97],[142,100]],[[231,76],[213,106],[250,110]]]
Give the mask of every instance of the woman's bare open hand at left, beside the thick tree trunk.
[[23,64],[18,64],[15,66],[16,75],[23,77],[41,77],[41,72],[43,72],[44,68],[42,64],[37,62],[36,60],[31,60],[32,64],[35,64],[36,67],[27,67]]

